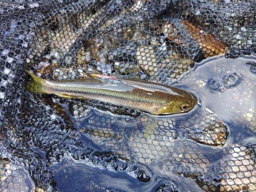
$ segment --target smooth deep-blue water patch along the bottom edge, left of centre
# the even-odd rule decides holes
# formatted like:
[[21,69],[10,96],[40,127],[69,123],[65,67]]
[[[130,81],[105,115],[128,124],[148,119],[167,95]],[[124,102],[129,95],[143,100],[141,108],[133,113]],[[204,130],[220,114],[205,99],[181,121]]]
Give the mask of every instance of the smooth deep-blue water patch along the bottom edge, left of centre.
[[115,172],[68,156],[49,170],[55,173],[59,191],[152,191],[159,183],[155,180],[140,182],[129,176],[127,170]]

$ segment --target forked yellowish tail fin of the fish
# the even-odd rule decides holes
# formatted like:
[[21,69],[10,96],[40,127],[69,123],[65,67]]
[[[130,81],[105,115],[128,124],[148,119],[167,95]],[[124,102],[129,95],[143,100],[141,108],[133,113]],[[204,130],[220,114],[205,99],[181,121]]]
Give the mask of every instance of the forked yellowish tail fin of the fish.
[[45,81],[44,79],[41,79],[34,74],[30,73],[28,70],[26,72],[33,78],[33,81],[31,82],[26,82],[25,88],[30,92],[30,93],[47,93],[44,90],[44,84]]

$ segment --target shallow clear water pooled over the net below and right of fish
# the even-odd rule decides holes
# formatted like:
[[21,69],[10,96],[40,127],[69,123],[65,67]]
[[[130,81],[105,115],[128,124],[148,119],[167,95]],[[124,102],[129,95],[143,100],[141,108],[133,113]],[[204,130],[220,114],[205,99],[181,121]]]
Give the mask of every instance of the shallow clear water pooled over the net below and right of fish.
[[[255,63],[246,64],[247,61],[255,58],[207,59],[198,63],[181,82],[173,84],[200,100],[187,114],[157,117],[142,113],[132,118],[90,109],[78,117],[68,111],[79,131],[78,140],[98,152],[110,153],[113,158],[105,164],[102,164],[104,158],[98,160],[101,163],[97,160],[89,163],[76,161],[67,154],[48,168],[54,175],[56,188],[59,191],[229,191],[237,189],[236,186],[253,189],[256,173],[251,167],[255,163],[251,156],[247,158],[247,151],[248,146],[256,143],[256,73]],[[63,108],[68,109],[66,105]],[[245,159],[250,160],[249,165],[244,163]],[[236,170],[237,165],[232,164],[240,161],[246,170],[241,167]],[[246,176],[245,172],[251,175]],[[239,177],[240,173],[244,176]]]

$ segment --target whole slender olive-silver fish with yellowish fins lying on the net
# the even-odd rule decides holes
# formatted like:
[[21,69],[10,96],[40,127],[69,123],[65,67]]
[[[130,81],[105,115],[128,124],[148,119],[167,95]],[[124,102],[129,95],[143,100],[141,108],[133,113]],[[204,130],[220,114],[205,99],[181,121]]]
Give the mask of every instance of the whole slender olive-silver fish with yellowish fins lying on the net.
[[28,70],[26,72],[33,79],[25,84],[30,93],[96,100],[152,115],[186,113],[198,103],[198,98],[192,93],[153,82],[99,74],[90,74],[93,78],[88,79],[50,81]]

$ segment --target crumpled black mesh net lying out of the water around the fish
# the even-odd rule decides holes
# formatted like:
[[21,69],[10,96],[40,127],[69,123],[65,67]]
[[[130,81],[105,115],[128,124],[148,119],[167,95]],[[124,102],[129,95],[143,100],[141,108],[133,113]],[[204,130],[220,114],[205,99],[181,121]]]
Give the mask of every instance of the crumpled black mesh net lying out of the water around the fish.
[[[51,80],[95,73],[172,84],[207,57],[254,55],[255,19],[254,1],[1,1],[0,177],[5,183],[1,187],[15,183],[8,180],[15,175],[13,166],[28,170],[35,184],[16,182],[19,188],[53,190],[54,178],[47,167],[67,152],[76,160],[116,170],[128,166],[138,180],[150,180],[143,167],[78,141],[78,130],[63,113],[65,99],[54,104],[29,94],[24,88],[26,69]],[[104,111],[103,103],[87,102]],[[109,108],[139,115],[120,106]],[[74,116],[85,113],[80,110]],[[211,182],[198,183],[218,190]],[[166,182],[156,190],[162,189],[177,188]]]

